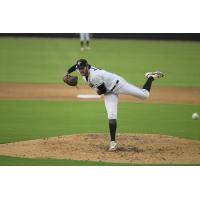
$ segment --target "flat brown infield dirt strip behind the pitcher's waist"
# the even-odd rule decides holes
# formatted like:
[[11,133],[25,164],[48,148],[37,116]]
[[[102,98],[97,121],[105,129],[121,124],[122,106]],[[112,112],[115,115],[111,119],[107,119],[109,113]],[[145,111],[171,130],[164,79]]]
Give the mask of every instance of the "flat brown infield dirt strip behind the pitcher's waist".
[[[0,99],[50,100],[50,101],[102,101],[103,99],[78,99],[78,94],[96,94],[88,86],[78,89],[64,84],[0,84]],[[200,104],[200,88],[153,87],[147,101],[120,95],[120,101],[145,103]]]

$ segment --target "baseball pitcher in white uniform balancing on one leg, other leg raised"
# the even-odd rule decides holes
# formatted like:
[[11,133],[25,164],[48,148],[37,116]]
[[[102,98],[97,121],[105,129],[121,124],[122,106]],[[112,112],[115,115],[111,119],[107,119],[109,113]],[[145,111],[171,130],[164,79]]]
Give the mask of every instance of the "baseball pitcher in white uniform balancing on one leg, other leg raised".
[[152,82],[157,78],[164,77],[164,74],[159,71],[146,73],[145,77],[147,78],[147,81],[143,88],[138,88],[135,85],[128,83],[121,76],[96,68],[88,64],[85,59],[79,59],[76,64],[70,67],[64,74],[64,82],[73,86],[77,84],[77,78],[75,78],[75,84],[74,81],[69,83],[69,79],[72,78],[70,74],[74,71],[78,71],[84,81],[91,88],[94,88],[98,95],[104,95],[111,139],[109,151],[116,151],[117,104],[119,94],[147,99],[149,97]]

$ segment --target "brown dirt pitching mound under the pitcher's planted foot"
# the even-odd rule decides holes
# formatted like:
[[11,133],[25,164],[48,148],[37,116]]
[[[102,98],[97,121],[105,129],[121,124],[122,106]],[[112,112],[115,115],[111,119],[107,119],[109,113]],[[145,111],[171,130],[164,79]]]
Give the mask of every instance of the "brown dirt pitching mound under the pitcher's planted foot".
[[200,141],[164,135],[121,134],[108,151],[104,134],[59,136],[0,145],[0,155],[135,164],[200,164]]

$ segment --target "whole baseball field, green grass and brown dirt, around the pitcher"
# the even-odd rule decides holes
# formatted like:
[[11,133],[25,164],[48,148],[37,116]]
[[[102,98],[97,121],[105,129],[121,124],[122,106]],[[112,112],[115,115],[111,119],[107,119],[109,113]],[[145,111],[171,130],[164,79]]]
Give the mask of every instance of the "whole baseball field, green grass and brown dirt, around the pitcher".
[[[119,150],[108,152],[103,97],[79,76],[62,77],[79,58],[142,87],[162,71],[146,101],[119,100]],[[0,37],[0,165],[200,165],[200,42]]]

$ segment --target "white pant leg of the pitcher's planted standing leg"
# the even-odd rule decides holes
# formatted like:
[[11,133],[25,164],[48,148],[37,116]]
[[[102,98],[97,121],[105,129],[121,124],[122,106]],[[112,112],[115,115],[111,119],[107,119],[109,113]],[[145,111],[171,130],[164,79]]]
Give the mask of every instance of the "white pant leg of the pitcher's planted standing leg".
[[118,95],[109,93],[104,95],[108,119],[117,119]]

